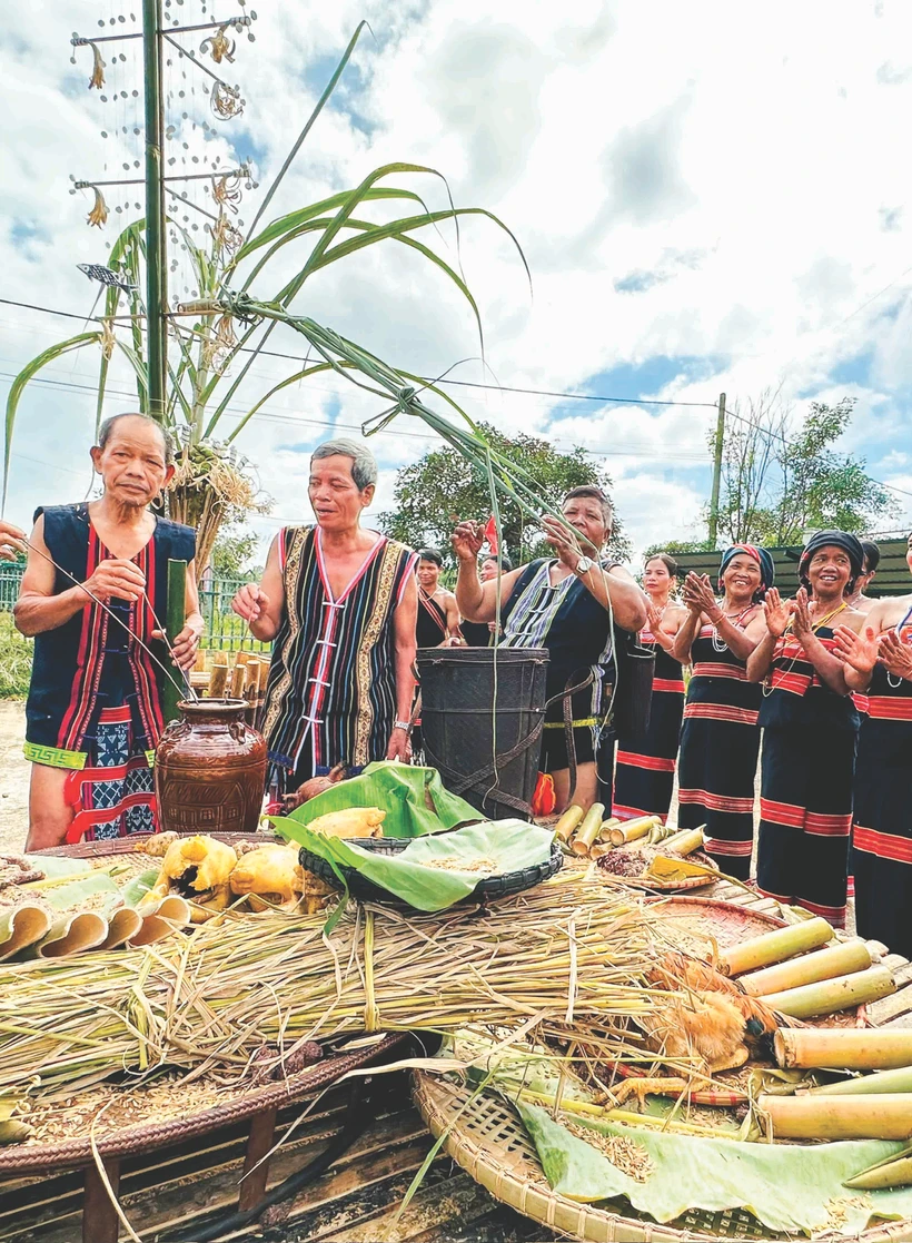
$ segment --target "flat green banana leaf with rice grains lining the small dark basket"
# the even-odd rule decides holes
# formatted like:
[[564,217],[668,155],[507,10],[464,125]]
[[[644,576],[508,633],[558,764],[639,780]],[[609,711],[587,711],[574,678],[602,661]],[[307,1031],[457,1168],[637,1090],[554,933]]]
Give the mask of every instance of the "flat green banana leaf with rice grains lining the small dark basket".
[[492,875],[502,875],[545,863],[554,837],[550,829],[540,829],[524,820],[488,820],[454,833],[416,838],[400,854],[381,855],[354,842],[314,833],[303,824],[292,827],[285,820],[277,828],[337,868],[355,869],[419,911],[446,910],[468,897],[483,879],[478,871],[425,866],[429,860],[471,864],[490,859],[496,864]]

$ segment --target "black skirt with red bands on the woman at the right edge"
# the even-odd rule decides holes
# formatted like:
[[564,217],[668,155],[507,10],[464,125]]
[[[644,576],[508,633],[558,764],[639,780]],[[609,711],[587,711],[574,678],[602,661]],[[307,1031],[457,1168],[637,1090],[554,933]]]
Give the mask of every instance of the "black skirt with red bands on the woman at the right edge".
[[[878,685],[881,684],[881,685]],[[851,861],[859,936],[912,957],[912,685],[875,670],[861,725]]]

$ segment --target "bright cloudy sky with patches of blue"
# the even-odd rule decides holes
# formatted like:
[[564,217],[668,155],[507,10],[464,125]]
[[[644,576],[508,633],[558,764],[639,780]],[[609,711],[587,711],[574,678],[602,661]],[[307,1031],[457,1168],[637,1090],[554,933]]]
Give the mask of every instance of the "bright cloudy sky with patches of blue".
[[[249,14],[253,2],[164,0],[165,25]],[[265,220],[357,185],[383,164],[417,164],[441,175],[398,173],[389,184],[431,209],[451,195],[460,208],[493,213],[532,272],[529,287],[516,245],[482,215],[462,218],[458,236],[452,225],[417,235],[461,265],[481,311],[483,357],[461,295],[393,242],[318,272],[293,310],[405,370],[452,368],[449,378],[463,383],[449,392],[473,418],[560,449],[584,445],[613,476],[636,551],[705,533],[707,431],[721,392],[743,411],[762,390],[779,389],[795,419],[811,400],[856,398],[840,447],[898,490],[887,526],[910,526],[912,5],[258,4],[255,41],[231,32],[232,63],[214,66],[200,51],[206,32],[175,36],[196,65],[166,45],[169,175],[249,160],[258,188],[244,190],[237,219],[250,226],[367,20]],[[99,45],[102,92],[87,89],[91,51],[70,46],[73,32],[138,31],[139,7],[31,0],[5,16],[2,298],[87,316],[96,287],[76,265],[104,262],[119,229],[142,214],[142,186],[113,188],[106,230],[88,227],[92,194],[72,185],[142,177],[140,44]],[[214,118],[199,63],[240,86],[241,117]],[[204,208],[205,186],[173,183]],[[184,214],[188,229],[205,224],[195,209]],[[389,204],[362,214],[395,215]],[[260,296],[273,296],[303,262],[308,242],[296,245],[257,277]],[[179,301],[191,296],[191,277],[180,252],[174,260]],[[0,398],[31,358],[81,331],[82,319],[0,303]],[[298,369],[302,346],[290,329],[273,334],[268,348],[291,357],[256,360],[217,436]],[[68,353],[26,389],[9,518],[27,523],[36,505],[80,500],[91,487],[98,359],[96,346]],[[134,408],[133,394],[129,368],[116,363],[104,413]],[[333,431],[357,434],[380,409],[326,377],[266,403],[236,441],[272,498],[271,513],[251,523],[263,541],[309,517],[309,451]],[[375,511],[389,508],[396,470],[434,445],[404,416],[373,438]]]

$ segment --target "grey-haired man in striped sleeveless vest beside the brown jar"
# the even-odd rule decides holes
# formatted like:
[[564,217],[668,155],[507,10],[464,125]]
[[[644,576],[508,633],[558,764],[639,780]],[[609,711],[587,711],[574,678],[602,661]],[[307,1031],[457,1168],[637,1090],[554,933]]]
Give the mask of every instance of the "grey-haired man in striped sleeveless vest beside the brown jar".
[[415,553],[362,527],[376,462],[354,440],[311,457],[316,526],[285,527],[262,583],[232,608],[273,641],[263,732],[275,797],[337,764],[409,758],[415,689]]

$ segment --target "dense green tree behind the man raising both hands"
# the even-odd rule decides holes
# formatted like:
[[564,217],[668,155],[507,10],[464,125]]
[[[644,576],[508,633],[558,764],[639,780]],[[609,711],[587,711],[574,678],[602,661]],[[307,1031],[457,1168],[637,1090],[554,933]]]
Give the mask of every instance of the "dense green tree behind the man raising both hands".
[[[562,454],[538,436],[504,436],[483,423],[480,430],[492,449],[536,480],[543,506],[558,506],[564,492],[583,484],[594,484],[610,496],[611,477],[585,449],[577,446]],[[386,534],[413,548],[439,548],[447,558],[454,521],[485,520],[492,508],[486,474],[452,447],[431,450],[404,466],[396,475],[394,495],[395,508],[379,516]],[[536,527],[528,526],[517,505],[501,497],[499,511],[504,552],[514,562],[550,554],[550,546]],[[630,542],[616,516],[609,549],[620,559],[630,556]]]

